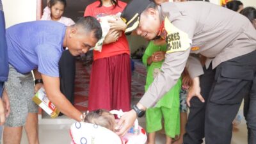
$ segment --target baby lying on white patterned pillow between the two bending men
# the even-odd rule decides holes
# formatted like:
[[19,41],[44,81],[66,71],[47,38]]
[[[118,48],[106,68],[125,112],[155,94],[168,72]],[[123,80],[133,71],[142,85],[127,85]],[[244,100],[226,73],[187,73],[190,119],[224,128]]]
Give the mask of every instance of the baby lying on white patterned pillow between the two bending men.
[[[147,135],[143,128],[134,124],[125,136],[120,138],[116,133],[114,113],[120,116],[122,111],[98,109],[86,114],[84,122],[76,122],[70,128],[72,144],[145,144]],[[137,121],[138,123],[138,121]],[[137,125],[137,126],[136,126]]]

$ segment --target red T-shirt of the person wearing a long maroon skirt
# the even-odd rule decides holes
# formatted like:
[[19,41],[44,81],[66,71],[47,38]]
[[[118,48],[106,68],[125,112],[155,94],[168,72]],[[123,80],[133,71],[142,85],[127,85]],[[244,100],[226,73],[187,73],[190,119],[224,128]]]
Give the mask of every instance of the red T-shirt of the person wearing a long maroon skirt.
[[[98,7],[100,4],[99,1],[95,1],[92,4],[89,4],[86,7],[84,12],[84,16],[92,16],[92,17],[102,17],[106,15],[115,15],[118,12],[122,12],[126,6],[126,3],[122,1],[118,1],[118,6],[114,8],[114,6],[101,6]],[[118,54],[130,54],[129,44],[125,34],[122,33],[122,36],[118,38],[118,41],[113,42],[111,44],[103,45],[102,51],[93,51],[93,60],[97,60],[100,58],[107,58],[109,56],[116,56]]]

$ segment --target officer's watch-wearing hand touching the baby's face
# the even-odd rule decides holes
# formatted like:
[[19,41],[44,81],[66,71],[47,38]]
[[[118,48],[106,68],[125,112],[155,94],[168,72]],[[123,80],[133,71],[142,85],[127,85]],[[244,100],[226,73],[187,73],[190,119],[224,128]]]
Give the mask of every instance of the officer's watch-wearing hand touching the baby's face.
[[125,113],[118,122],[117,129],[119,131],[116,132],[119,136],[124,136],[124,134],[132,127],[136,120],[136,112],[132,109]]

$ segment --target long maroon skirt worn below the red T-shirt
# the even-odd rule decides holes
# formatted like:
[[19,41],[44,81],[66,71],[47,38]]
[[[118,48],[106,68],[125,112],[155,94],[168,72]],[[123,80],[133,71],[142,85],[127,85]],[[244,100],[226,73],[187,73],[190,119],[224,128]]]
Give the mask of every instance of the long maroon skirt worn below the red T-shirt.
[[131,109],[131,60],[119,54],[93,61],[88,110]]

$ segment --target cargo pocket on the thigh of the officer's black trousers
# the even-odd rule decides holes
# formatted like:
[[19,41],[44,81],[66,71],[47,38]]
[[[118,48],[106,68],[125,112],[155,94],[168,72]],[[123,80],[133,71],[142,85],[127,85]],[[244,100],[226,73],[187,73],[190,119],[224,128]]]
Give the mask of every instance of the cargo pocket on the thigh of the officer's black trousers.
[[253,70],[237,65],[222,66],[216,70],[216,84],[210,100],[217,104],[239,104],[250,91]]

